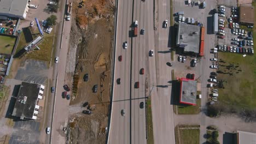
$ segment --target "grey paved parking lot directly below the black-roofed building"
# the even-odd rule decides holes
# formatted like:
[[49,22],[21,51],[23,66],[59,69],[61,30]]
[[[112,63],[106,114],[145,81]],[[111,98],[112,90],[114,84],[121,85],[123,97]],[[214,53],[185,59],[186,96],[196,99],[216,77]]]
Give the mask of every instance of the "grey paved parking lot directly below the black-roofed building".
[[10,144],[39,143],[39,122],[18,121],[14,124],[14,132],[9,140]]

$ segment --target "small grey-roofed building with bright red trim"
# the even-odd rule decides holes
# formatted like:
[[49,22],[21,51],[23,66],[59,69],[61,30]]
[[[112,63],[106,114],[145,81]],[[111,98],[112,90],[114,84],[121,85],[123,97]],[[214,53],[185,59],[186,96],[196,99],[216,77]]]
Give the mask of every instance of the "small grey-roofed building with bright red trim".
[[181,79],[181,92],[179,103],[196,105],[197,81],[190,79]]

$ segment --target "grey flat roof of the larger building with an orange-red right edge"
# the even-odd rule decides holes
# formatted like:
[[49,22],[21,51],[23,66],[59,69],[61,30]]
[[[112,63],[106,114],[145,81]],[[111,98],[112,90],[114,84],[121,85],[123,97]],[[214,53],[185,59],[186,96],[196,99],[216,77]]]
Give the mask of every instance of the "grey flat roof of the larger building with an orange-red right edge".
[[177,45],[184,47],[184,52],[199,53],[200,46],[200,27],[179,23]]

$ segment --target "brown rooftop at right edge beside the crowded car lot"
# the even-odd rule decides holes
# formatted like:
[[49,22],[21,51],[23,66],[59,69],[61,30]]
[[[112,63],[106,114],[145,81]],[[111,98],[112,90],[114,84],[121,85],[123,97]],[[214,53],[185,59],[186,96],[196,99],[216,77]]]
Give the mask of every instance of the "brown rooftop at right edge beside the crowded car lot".
[[239,22],[254,23],[254,8],[240,5]]

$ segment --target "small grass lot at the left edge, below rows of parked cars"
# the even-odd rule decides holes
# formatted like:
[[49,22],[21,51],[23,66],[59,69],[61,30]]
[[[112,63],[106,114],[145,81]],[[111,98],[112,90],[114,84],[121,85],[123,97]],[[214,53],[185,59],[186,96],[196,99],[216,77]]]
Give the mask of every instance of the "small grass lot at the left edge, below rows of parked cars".
[[0,35],[0,53],[11,54],[16,38]]

